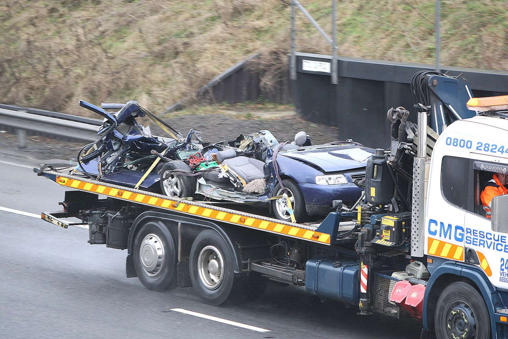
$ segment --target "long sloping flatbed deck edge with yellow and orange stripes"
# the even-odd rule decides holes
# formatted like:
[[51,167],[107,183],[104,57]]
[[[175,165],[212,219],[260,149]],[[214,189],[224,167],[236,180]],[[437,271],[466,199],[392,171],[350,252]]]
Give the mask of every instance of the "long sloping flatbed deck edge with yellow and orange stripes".
[[[39,168],[34,168],[34,172],[39,172]],[[309,225],[217,207],[213,206],[213,204],[205,204],[190,200],[174,200],[166,195],[100,182],[68,174],[63,171],[42,171],[41,175],[61,186],[75,190],[103,194],[114,199],[129,201],[157,209],[194,215],[241,227],[258,229],[281,236],[330,245],[330,233],[317,232],[317,227]]]

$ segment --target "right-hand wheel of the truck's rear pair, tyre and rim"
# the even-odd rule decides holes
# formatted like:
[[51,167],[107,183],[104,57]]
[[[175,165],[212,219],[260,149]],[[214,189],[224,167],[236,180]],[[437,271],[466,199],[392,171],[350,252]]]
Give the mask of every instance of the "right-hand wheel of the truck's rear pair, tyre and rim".
[[198,296],[210,305],[246,297],[244,274],[234,273],[234,260],[224,239],[213,230],[201,232],[190,248],[190,280]]

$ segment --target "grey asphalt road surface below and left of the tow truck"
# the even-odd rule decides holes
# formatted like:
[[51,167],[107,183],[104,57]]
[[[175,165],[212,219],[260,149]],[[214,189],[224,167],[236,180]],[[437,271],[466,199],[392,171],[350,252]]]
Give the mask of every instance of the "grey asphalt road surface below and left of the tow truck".
[[[64,189],[37,177],[34,165],[0,152],[0,207],[58,210]],[[418,338],[421,324],[353,309],[269,285],[258,300],[209,306],[192,288],[146,290],[125,277],[126,251],[87,244],[88,231],[60,229],[0,210],[0,338]],[[258,332],[181,314],[183,308],[257,326]]]

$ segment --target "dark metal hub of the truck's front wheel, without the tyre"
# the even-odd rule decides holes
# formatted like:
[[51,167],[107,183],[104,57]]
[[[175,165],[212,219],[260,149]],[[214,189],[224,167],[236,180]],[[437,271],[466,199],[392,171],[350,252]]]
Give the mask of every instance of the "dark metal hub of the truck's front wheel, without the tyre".
[[451,339],[473,338],[476,335],[476,319],[465,302],[458,302],[449,308],[446,321],[448,336]]

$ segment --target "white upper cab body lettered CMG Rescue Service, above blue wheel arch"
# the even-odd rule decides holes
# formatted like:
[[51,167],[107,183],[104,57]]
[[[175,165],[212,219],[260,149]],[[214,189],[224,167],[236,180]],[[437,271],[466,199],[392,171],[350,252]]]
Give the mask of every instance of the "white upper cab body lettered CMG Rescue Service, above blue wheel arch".
[[478,265],[502,289],[508,289],[508,222],[494,222],[506,204],[494,205],[491,219],[480,194],[495,173],[508,173],[507,136],[502,116],[448,126],[434,146],[425,206],[425,254]]

